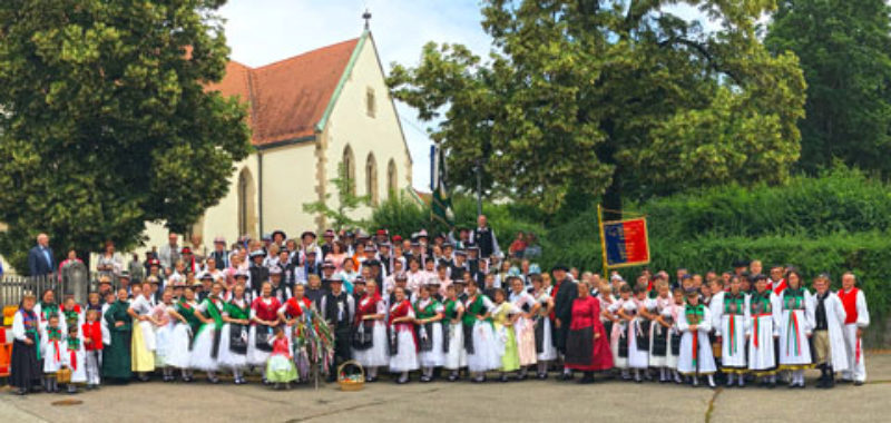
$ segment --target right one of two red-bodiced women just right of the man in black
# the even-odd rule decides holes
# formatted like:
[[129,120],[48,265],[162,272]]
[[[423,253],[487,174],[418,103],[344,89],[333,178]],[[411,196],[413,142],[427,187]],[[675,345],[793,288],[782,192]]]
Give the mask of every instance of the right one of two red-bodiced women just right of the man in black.
[[414,309],[405,298],[405,289],[393,289],[394,301],[390,306],[388,336],[390,340],[390,372],[400,373],[396,383],[409,382],[409,372],[418,370],[414,344]]

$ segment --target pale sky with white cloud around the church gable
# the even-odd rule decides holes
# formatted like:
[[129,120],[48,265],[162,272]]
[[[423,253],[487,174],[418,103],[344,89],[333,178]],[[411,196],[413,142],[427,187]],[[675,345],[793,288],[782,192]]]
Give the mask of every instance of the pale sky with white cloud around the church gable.
[[[674,8],[682,17],[697,16],[689,7]],[[393,62],[417,65],[428,41],[462,43],[483,57],[489,51],[478,0],[229,0],[219,14],[232,59],[258,67],[359,37],[365,9],[385,71]],[[419,121],[399,102],[396,111],[414,163],[414,188],[429,191],[427,129],[434,124]]]

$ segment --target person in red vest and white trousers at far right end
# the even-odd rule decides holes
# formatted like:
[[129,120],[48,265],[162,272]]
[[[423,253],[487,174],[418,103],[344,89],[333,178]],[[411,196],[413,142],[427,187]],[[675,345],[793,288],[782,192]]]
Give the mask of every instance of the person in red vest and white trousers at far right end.
[[858,288],[854,274],[842,275],[842,288],[836,295],[844,307],[844,344],[848,355],[848,370],[842,372],[843,382],[854,382],[855,386],[866,382],[866,361],[863,356],[861,338],[863,331],[870,326],[870,312],[866,308],[866,295]]

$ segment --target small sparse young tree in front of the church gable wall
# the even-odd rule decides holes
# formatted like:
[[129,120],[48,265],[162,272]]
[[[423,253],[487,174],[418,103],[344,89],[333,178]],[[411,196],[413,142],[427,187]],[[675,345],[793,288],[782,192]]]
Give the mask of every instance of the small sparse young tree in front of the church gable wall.
[[337,177],[330,179],[331,185],[337,190],[336,207],[331,207],[331,193],[325,193],[324,200],[303,204],[303,212],[324,216],[334,227],[334,230],[345,228],[366,228],[369,222],[356,219],[351,215],[360,207],[371,207],[371,197],[355,195],[355,180],[346,177],[343,164],[337,166]]

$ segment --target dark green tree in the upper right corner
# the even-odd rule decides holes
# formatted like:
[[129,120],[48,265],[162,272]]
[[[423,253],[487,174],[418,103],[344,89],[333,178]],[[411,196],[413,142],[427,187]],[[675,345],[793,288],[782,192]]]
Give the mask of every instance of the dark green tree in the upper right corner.
[[799,165],[833,158],[891,174],[891,8],[885,0],[781,1],[765,39],[799,56],[807,81]]

